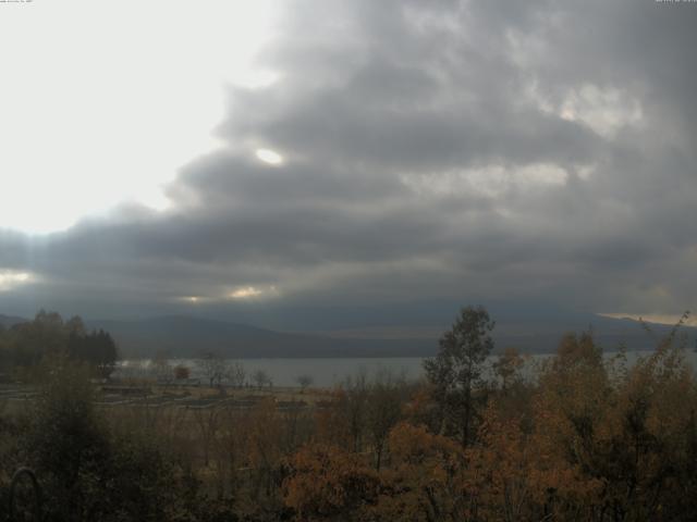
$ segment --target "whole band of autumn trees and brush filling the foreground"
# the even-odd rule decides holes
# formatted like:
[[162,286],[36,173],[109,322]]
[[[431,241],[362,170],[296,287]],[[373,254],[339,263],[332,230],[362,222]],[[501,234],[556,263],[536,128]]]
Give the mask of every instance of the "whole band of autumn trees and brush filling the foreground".
[[[356,376],[298,390],[302,400],[283,408],[267,393],[247,408],[182,409],[98,406],[112,343],[58,319],[0,333],[0,361],[37,390],[19,410],[0,398],[0,520],[11,520],[11,505],[15,520],[32,520],[28,475],[11,487],[21,467],[35,473],[49,521],[687,521],[697,512],[697,386],[680,325],[631,365],[623,351],[603,358],[587,332],[560,339],[533,377],[514,349],[499,352],[489,375],[494,323],[468,307],[423,382]],[[46,347],[40,357],[22,344],[29,337]]]

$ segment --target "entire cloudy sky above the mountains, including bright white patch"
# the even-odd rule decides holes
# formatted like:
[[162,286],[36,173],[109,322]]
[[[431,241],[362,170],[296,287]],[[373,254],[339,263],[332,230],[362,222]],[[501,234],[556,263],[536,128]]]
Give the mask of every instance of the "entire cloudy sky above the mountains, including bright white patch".
[[696,26],[646,0],[0,3],[0,313],[680,315]]

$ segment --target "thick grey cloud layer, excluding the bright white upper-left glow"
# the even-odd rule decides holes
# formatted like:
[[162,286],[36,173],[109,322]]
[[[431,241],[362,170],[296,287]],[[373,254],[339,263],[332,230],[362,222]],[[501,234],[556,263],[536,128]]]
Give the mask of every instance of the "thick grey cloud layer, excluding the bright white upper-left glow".
[[288,11],[259,59],[280,79],[230,88],[227,146],[182,167],[171,210],[0,234],[0,268],[39,277],[8,302],[87,315],[186,296],[237,311],[694,303],[696,5]]

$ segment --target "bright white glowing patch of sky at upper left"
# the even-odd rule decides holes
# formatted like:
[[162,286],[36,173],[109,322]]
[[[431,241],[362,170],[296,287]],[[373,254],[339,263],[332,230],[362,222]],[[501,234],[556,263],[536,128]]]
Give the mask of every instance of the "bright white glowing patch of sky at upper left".
[[[0,228],[46,233],[124,200],[161,210],[162,186],[219,146],[224,85],[258,88],[269,1],[66,0],[0,17]],[[80,21],[73,22],[73,21]],[[127,35],[124,37],[123,35]],[[50,45],[47,45],[50,42]]]

